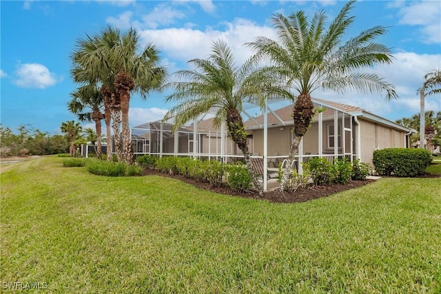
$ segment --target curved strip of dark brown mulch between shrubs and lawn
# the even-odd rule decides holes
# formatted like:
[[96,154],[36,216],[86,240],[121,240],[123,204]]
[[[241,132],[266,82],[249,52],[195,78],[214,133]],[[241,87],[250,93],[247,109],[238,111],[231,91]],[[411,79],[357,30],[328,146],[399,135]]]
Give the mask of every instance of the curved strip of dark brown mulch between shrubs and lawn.
[[187,182],[190,185],[194,185],[195,187],[198,187],[200,189],[205,189],[216,193],[239,196],[244,198],[268,200],[270,202],[280,202],[280,203],[304,202],[307,200],[327,197],[329,195],[338,193],[340,191],[361,187],[369,184],[370,182],[373,182],[373,180],[351,180],[346,185],[334,184],[330,186],[307,187],[305,189],[298,189],[296,193],[280,193],[277,190],[267,191],[264,193],[263,197],[259,197],[258,193],[254,191],[249,191],[247,193],[238,193],[237,191],[233,191],[231,188],[227,186],[214,188],[211,185],[209,185],[208,182],[201,182],[198,180],[185,178],[185,176],[181,176],[181,175],[172,176],[169,174],[162,174],[156,169],[145,169],[143,174],[145,176],[156,175],[156,176],[166,176],[169,178],[176,178],[178,180],[182,180],[183,182]]

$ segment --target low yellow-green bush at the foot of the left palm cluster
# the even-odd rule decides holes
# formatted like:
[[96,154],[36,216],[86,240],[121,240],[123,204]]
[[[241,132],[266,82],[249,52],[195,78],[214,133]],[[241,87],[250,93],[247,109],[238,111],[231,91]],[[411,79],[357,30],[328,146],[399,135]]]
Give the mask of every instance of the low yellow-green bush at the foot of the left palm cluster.
[[141,176],[143,169],[125,162],[112,162],[105,160],[90,160],[88,171],[99,176]]

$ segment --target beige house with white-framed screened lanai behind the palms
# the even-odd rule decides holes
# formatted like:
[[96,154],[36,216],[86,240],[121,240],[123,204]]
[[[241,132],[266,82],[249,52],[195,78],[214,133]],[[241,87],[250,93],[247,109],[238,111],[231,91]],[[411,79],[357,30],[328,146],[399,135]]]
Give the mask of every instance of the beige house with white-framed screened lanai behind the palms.
[[[316,116],[302,138],[296,155],[296,166],[302,174],[302,163],[311,157],[360,158],[371,163],[372,152],[384,147],[407,147],[411,129],[366,112],[365,109],[312,99]],[[156,156],[192,156],[208,160],[235,162],[243,157],[227,135],[225,123],[213,125],[213,112],[172,131],[173,118],[157,120],[132,128],[134,154]],[[288,101],[267,103],[266,110],[252,103],[242,112],[249,133],[248,147],[252,158],[261,160],[263,171],[276,171],[288,157],[292,142],[292,104]],[[265,173],[264,173],[265,174]],[[262,177],[264,190],[267,176]]]

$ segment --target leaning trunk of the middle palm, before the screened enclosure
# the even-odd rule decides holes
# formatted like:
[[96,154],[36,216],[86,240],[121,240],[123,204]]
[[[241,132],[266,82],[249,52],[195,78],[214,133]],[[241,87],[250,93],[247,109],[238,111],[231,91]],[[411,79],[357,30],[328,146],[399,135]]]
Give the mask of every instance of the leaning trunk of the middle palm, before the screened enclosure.
[[[242,116],[237,109],[229,109],[227,112],[227,127],[228,133],[232,136],[234,143],[236,143],[243,153],[243,159],[245,160],[245,165],[248,171],[252,174],[252,180],[254,187],[259,193],[259,196],[263,196],[263,188],[257,178],[256,170],[254,169],[251,154],[249,154],[249,149],[247,145],[247,132],[243,127]],[[265,173],[265,172],[264,172]],[[265,174],[263,176],[266,176]]]

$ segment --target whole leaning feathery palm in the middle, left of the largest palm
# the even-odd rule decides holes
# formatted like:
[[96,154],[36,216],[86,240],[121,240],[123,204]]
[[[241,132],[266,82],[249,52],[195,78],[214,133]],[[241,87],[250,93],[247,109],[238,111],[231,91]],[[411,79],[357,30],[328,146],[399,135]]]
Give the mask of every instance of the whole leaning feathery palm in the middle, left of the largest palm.
[[188,63],[193,65],[195,70],[178,71],[176,76],[183,81],[167,84],[174,87],[175,92],[167,96],[166,101],[176,101],[180,104],[172,107],[165,119],[174,116],[176,129],[210,109],[216,109],[214,124],[219,126],[224,121],[227,123],[228,134],[242,151],[247,168],[253,175],[254,186],[262,195],[262,187],[256,178],[249,154],[247,132],[240,112],[243,110],[245,99],[264,107],[266,93],[276,90],[271,89],[271,83],[265,82],[263,76],[258,76],[252,59],[236,67],[234,56],[223,41],[214,42],[208,59],[192,59]]

